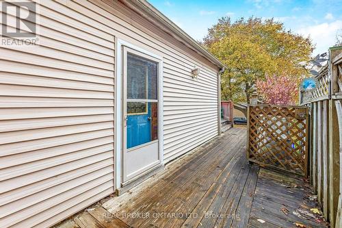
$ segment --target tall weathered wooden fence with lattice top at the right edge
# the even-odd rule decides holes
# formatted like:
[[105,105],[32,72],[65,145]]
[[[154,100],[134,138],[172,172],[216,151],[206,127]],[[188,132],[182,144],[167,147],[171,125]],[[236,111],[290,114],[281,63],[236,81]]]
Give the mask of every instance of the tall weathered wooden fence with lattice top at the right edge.
[[330,49],[330,60],[316,77],[315,90],[300,103],[311,109],[309,175],[324,216],[342,227],[342,47]]

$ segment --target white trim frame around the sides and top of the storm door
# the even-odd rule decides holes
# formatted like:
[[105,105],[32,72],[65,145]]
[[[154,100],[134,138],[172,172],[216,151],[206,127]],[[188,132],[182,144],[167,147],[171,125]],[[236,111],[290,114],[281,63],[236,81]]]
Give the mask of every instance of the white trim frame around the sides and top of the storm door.
[[158,139],[159,139],[159,160],[161,164],[163,164],[163,58],[160,55],[155,53],[151,53],[150,51],[146,51],[141,47],[137,47],[132,45],[129,42],[124,40],[120,40],[117,38],[116,40],[116,56],[115,56],[115,64],[116,64],[116,73],[115,73],[115,114],[114,114],[114,186],[115,189],[121,188],[122,183],[122,75],[123,75],[123,61],[122,61],[122,47],[129,47],[130,49],[134,49],[135,51],[140,51],[146,55],[150,55],[153,58],[157,58],[160,60],[159,73],[158,73]]

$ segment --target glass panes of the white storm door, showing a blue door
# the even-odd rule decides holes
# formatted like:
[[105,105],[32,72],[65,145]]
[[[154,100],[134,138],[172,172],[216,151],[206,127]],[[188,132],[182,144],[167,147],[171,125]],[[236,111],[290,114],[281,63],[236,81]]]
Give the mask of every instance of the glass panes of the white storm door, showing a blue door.
[[127,54],[127,149],[158,139],[158,63]]

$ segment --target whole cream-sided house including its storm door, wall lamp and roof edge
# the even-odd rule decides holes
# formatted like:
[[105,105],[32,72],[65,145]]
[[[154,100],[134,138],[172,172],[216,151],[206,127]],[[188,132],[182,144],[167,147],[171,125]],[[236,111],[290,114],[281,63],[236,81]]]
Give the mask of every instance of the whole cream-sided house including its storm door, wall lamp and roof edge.
[[224,66],[152,5],[34,2],[39,45],[1,45],[0,227],[54,225],[220,132]]

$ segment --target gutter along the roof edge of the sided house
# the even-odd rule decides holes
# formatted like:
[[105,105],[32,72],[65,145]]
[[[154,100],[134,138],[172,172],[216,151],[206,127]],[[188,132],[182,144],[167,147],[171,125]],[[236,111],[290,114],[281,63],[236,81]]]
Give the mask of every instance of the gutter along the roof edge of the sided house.
[[209,51],[207,51],[204,47],[202,47],[194,38],[189,36],[183,29],[178,27],[175,23],[173,23],[167,16],[165,16],[163,13],[161,13],[157,8],[155,8],[152,4],[148,3],[146,0],[137,0],[137,3],[140,3],[142,9],[147,12],[150,16],[157,19],[157,21],[160,21],[164,25],[168,27],[168,29],[171,29],[175,34],[186,40],[190,45],[195,47],[202,55],[204,55],[207,59],[209,59],[213,64],[219,66],[220,68],[224,68],[224,64],[218,60],[218,58],[215,58],[213,54],[211,54]]

